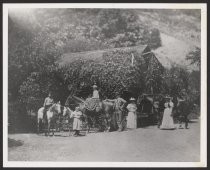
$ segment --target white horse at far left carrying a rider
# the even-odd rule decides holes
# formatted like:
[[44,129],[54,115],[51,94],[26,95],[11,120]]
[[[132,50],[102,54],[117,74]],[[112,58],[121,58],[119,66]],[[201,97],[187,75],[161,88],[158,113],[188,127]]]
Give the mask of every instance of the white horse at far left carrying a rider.
[[[38,110],[37,114],[37,133],[39,134],[40,132],[40,123],[43,123],[46,125],[47,123],[47,132],[45,131],[45,136],[50,134],[50,128],[53,125],[53,123],[56,121],[56,118],[59,114],[61,114],[61,105],[60,102],[54,103],[49,110],[46,112],[47,115],[47,120],[43,118],[44,116],[44,107],[40,108]],[[53,132],[54,136],[54,132]]]

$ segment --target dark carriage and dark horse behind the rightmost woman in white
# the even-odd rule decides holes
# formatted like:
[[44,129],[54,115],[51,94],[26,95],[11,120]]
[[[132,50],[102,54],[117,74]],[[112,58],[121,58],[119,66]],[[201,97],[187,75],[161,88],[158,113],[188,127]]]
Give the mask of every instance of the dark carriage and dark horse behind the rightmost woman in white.
[[[173,96],[171,99],[174,103],[172,111],[174,122],[185,122],[185,127],[187,127],[188,117],[195,110],[195,101],[190,98],[178,96]],[[162,94],[143,94],[139,96],[137,100],[138,123],[141,126],[157,123],[159,126],[163,116],[165,102],[165,96]]]

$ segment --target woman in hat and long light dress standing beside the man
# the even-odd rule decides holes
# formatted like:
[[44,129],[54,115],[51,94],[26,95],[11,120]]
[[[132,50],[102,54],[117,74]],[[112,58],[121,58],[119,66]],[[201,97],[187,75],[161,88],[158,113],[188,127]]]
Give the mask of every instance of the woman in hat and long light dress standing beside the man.
[[135,99],[133,97],[130,99],[130,104],[128,104],[127,109],[128,109],[127,128],[136,129],[137,128],[137,115],[136,115],[137,106],[135,103]]

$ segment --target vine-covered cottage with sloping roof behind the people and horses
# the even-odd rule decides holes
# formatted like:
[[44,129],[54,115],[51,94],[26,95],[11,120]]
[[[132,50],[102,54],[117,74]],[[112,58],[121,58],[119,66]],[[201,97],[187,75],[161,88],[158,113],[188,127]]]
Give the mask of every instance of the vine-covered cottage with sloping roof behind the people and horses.
[[[72,82],[73,73],[69,71],[70,89],[78,90],[78,83],[82,86],[88,84],[90,89],[90,85],[96,82],[103,89],[103,93],[115,93],[119,90],[137,95],[150,93],[155,88],[157,91],[158,87],[152,87],[152,84],[159,81],[158,76],[164,71],[164,67],[147,45],[66,53],[60,61],[60,65],[66,65],[67,69],[78,67],[79,64],[81,66],[78,80],[74,79]],[[111,94],[104,96],[113,97]]]

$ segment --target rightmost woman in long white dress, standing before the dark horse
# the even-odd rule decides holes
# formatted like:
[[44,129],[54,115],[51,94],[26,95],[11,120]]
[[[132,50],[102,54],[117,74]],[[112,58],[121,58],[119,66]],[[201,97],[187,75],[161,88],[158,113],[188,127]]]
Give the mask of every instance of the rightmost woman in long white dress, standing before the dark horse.
[[168,97],[166,99],[167,99],[167,102],[164,104],[165,110],[163,113],[163,120],[162,120],[160,129],[175,129],[174,120],[172,116],[172,110],[173,110],[174,104],[171,101],[171,98]]

